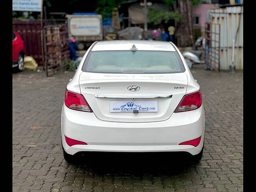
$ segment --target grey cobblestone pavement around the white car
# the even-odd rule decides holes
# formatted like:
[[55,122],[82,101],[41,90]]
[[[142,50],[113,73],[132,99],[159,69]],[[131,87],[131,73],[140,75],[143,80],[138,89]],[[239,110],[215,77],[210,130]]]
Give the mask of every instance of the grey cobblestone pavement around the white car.
[[243,191],[243,72],[199,66],[191,71],[205,109],[205,149],[198,164],[162,153],[93,153],[78,165],[68,164],[62,156],[60,115],[74,73],[13,74],[13,191]]

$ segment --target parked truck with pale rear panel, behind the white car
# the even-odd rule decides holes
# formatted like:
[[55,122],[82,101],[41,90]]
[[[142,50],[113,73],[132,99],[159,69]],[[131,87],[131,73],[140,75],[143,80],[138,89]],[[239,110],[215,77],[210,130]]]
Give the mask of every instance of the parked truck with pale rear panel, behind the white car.
[[94,41],[103,40],[102,15],[72,14],[68,18],[68,35],[74,36],[78,50],[88,48]]

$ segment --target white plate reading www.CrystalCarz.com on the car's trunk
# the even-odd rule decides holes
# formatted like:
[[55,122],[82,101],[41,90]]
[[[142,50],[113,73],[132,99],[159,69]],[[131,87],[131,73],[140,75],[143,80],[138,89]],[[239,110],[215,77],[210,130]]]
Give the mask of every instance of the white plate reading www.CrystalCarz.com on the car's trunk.
[[110,101],[110,112],[158,112],[157,100],[114,100]]

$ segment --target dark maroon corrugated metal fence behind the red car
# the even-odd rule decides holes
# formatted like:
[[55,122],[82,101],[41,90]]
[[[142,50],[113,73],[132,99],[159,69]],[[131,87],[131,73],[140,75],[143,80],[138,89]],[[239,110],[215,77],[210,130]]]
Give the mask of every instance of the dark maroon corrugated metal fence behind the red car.
[[32,56],[39,66],[42,62],[41,25],[39,20],[12,20],[12,29],[24,40],[25,55]]

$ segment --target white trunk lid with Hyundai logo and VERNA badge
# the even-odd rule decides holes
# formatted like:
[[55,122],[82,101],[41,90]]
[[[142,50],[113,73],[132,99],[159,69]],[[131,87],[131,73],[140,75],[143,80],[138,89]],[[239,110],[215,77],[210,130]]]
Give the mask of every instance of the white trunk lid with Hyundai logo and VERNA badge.
[[79,84],[81,94],[100,120],[155,122],[170,118],[186,94],[188,80],[185,73],[82,72]]

